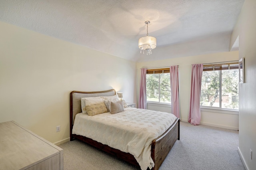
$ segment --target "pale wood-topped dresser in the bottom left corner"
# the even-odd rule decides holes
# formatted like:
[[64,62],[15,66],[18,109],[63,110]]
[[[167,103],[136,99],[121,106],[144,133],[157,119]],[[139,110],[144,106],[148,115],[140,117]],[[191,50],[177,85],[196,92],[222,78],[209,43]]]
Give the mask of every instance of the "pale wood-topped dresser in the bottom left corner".
[[0,123],[0,170],[63,170],[63,149],[14,121]]

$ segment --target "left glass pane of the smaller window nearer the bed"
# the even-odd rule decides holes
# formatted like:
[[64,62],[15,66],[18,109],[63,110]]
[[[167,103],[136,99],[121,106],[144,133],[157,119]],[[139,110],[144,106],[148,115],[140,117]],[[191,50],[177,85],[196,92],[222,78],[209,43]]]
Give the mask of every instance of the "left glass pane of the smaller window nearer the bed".
[[147,101],[159,102],[159,74],[146,75]]

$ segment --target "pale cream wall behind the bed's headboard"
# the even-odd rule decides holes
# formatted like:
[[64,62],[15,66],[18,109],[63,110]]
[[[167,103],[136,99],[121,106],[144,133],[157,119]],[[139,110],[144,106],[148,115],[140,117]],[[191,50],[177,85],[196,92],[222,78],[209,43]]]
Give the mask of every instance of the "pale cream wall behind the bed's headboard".
[[136,102],[136,63],[4,22],[0,28],[0,122],[61,143],[69,138],[71,91],[116,89]]

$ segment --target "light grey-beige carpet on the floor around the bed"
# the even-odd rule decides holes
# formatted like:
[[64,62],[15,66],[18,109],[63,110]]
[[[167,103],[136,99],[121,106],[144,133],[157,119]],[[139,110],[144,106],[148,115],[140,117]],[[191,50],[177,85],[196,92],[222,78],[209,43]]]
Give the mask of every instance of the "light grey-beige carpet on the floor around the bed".
[[[140,170],[79,140],[59,147],[64,149],[64,170]],[[180,122],[180,140],[160,170],[244,170],[238,131]]]

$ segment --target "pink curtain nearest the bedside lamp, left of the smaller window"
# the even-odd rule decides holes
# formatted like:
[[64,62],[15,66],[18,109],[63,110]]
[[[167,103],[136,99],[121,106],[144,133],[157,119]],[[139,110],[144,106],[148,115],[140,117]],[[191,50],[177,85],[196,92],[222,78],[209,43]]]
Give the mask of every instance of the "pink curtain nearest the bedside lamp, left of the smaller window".
[[140,94],[139,94],[139,109],[146,109],[146,73],[147,69],[142,68],[140,74]]

